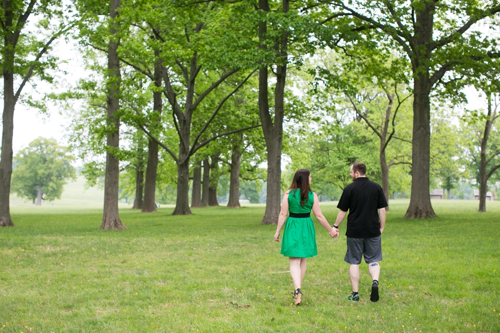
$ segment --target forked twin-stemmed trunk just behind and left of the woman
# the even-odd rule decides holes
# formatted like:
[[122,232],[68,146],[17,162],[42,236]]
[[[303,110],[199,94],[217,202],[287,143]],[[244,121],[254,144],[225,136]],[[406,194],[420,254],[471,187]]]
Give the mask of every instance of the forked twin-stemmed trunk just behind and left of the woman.
[[[268,0],[259,0],[259,9],[269,12]],[[283,0],[283,12],[288,12],[289,0]],[[259,25],[260,47],[265,45],[267,22]],[[268,101],[268,68],[259,69],[259,114],[267,147],[267,197],[266,210],[261,224],[278,224],[281,210],[281,151],[283,142],[284,92],[287,70],[288,32],[283,31],[283,37],[277,45],[280,63],[276,67],[276,87],[274,88],[274,122],[269,112]]]

